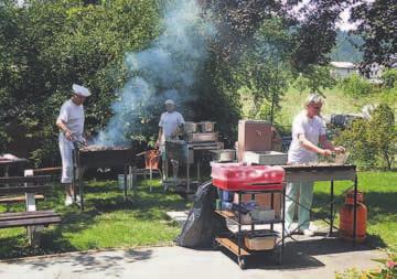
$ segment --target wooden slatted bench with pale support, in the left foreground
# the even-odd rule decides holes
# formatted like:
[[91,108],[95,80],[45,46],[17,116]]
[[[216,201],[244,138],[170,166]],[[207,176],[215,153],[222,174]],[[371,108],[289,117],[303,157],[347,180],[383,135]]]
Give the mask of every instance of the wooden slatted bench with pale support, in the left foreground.
[[28,227],[30,244],[39,246],[42,226],[61,223],[53,211],[35,211],[34,196],[51,190],[50,181],[50,175],[0,178],[0,196],[24,193],[26,202],[26,212],[0,213],[0,228]]

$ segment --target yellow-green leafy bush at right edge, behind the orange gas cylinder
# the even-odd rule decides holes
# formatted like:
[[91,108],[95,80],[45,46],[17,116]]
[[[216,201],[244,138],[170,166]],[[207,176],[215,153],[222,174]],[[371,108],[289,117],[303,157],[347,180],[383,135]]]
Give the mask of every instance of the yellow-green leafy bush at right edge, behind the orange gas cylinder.
[[357,119],[336,139],[350,149],[353,161],[360,167],[391,170],[397,154],[395,115],[388,105],[379,105],[371,119]]

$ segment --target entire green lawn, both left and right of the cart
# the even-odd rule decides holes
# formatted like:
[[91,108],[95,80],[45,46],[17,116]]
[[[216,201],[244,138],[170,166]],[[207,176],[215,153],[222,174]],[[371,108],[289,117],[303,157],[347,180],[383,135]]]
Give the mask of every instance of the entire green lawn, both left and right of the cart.
[[[350,183],[335,183],[340,194]],[[184,210],[190,203],[175,194],[163,194],[157,181],[153,192],[142,182],[132,201],[125,203],[116,181],[89,182],[86,187],[86,210],[63,205],[63,190],[58,184],[40,203],[40,208],[54,208],[62,214],[62,224],[45,229],[42,248],[30,248],[24,228],[0,230],[0,258],[43,255],[94,248],[136,247],[171,243],[180,227],[169,222],[167,211]],[[397,246],[397,173],[361,172],[358,186],[365,192],[368,207],[367,232],[374,246]],[[319,204],[329,200],[329,183],[315,186],[314,210],[328,214]],[[339,206],[343,200],[340,198]],[[0,208],[1,212],[6,207]],[[23,211],[22,205],[11,211]],[[335,222],[337,225],[337,221]]]

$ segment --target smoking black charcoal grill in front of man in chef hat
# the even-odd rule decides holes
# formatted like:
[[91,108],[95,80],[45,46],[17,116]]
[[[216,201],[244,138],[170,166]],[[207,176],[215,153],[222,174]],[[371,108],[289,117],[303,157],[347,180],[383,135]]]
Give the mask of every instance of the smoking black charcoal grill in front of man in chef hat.
[[[78,185],[81,208],[84,210],[84,171],[88,168],[124,167],[124,198],[127,200],[127,174],[135,169],[136,150],[125,147],[77,147],[74,150],[74,185]],[[133,171],[132,171],[133,172]],[[135,173],[135,172],[133,172]]]

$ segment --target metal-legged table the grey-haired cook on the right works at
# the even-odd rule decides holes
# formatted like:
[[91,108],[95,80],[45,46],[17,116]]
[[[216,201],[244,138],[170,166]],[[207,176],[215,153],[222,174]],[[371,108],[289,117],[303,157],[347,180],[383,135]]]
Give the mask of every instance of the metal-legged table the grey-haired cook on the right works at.
[[[330,225],[329,235],[332,234],[333,228],[336,228],[333,225],[334,222],[334,181],[352,181],[353,185],[350,186],[347,192],[352,187],[354,189],[354,210],[353,210],[353,244],[356,242],[356,211],[357,211],[357,173],[356,167],[353,164],[313,164],[313,165],[303,165],[303,164],[291,164],[282,165],[286,171],[286,182],[315,182],[315,181],[330,181],[330,215],[329,219],[323,219]],[[288,198],[294,201],[293,198],[287,196]],[[294,201],[298,205],[302,206],[298,201]],[[305,208],[305,207],[304,207]],[[311,208],[305,208],[313,214]],[[337,229],[337,228],[336,228]]]

